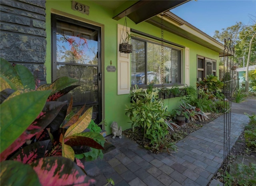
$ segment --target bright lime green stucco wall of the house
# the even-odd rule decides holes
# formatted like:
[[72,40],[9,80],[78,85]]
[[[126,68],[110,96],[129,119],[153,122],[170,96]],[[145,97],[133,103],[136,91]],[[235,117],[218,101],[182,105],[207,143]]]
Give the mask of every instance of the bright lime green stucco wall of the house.
[[[106,67],[112,65],[117,68],[117,24],[124,24],[124,18],[119,21],[112,19],[114,11],[108,8],[104,8],[95,4],[92,1],[78,1],[82,4],[90,6],[90,14],[82,14],[78,11],[71,9],[72,1],[46,1],[46,35],[47,35],[47,46],[46,46],[46,73],[47,82],[51,81],[51,12],[60,11],[61,15],[67,14],[67,16],[76,19],[80,17],[85,22],[90,24],[97,24],[102,26],[102,83],[103,83],[103,119],[106,120],[106,128],[108,134],[111,133],[110,125],[113,121],[116,121],[119,126],[122,126],[123,130],[130,128],[128,117],[125,115],[124,109],[125,104],[130,103],[130,97],[128,94],[117,95],[117,71],[107,72]],[[54,10],[51,10],[54,9]],[[76,17],[77,16],[77,17]],[[150,34],[161,38],[160,28],[156,28],[146,22],[135,24],[129,18],[127,20],[127,26],[135,30],[139,30],[146,34]],[[181,38],[172,33],[164,32],[164,39],[171,42],[186,46],[190,48],[190,85],[196,85],[196,55],[205,56],[217,60],[218,64],[218,53],[208,48],[202,47],[199,44],[190,42],[185,38]],[[217,67],[218,69],[218,67]],[[217,72],[218,74],[218,72]],[[175,108],[178,104],[178,98],[172,98],[170,100],[164,100],[165,104],[168,105],[169,110]]]

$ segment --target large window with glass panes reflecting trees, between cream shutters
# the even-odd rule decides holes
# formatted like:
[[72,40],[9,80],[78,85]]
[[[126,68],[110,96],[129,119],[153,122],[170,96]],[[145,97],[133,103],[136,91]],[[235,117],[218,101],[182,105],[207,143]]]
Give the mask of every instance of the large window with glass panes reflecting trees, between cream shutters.
[[131,84],[148,85],[150,83],[181,84],[181,50],[164,46],[162,65],[161,44],[132,38]]

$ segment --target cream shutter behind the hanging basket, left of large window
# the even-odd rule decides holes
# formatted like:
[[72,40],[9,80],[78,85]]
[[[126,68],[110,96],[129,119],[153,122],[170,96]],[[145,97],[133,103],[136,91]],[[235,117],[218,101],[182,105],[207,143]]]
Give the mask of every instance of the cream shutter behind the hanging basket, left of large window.
[[[117,26],[117,94],[129,94],[130,93],[130,54],[119,52],[119,44],[121,36],[126,38],[126,30],[123,32],[123,25]],[[126,29],[126,28],[124,28]],[[130,34],[130,28],[128,28]]]

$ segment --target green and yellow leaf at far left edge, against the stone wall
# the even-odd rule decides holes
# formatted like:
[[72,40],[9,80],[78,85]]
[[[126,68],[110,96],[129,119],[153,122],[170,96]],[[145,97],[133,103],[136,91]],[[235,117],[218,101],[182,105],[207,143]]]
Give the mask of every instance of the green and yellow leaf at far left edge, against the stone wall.
[[10,80],[10,82],[14,84],[15,88],[12,87],[12,89],[16,90],[17,88],[24,88],[20,77],[18,76],[16,70],[13,68],[12,64],[3,58],[0,58],[0,74],[5,76],[8,80]]

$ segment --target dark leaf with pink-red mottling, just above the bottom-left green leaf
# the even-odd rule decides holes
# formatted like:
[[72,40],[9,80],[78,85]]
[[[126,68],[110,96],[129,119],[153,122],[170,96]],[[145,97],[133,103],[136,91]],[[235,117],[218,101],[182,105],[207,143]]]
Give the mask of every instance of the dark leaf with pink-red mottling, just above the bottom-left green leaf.
[[25,146],[16,152],[9,160],[15,160],[24,164],[29,164],[34,160],[43,158],[49,142],[50,140],[45,140]]

